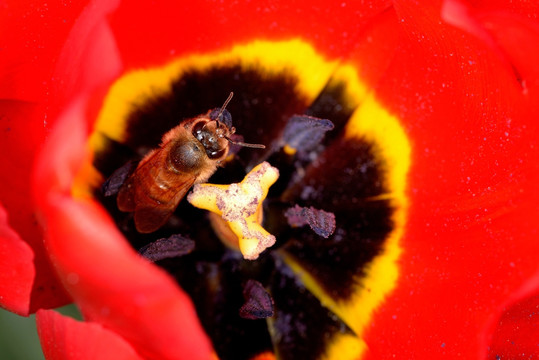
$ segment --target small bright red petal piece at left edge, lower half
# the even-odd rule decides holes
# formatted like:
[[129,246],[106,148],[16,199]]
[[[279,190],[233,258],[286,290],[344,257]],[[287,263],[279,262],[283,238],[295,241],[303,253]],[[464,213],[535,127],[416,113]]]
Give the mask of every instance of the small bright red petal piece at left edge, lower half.
[[19,315],[28,315],[34,280],[34,253],[8,224],[0,204],[0,304]]

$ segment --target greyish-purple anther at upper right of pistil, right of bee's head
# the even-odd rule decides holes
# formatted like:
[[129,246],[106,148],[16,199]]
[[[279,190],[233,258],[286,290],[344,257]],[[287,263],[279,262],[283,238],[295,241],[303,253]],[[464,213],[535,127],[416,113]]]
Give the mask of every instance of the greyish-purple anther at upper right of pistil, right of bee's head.
[[327,119],[307,115],[294,115],[284,129],[284,143],[299,152],[309,152],[324,139],[326,131],[334,128]]

